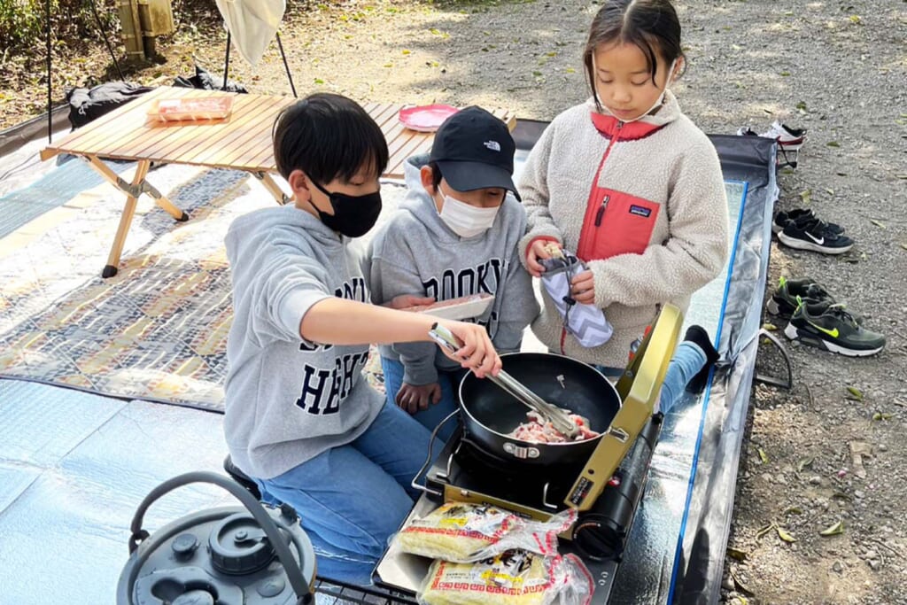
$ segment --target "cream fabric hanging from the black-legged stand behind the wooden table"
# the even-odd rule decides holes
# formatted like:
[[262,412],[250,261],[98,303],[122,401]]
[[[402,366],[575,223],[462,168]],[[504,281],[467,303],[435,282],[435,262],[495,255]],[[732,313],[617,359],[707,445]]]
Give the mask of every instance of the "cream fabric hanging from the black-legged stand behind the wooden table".
[[216,0],[236,49],[255,67],[278,33],[284,0]]

